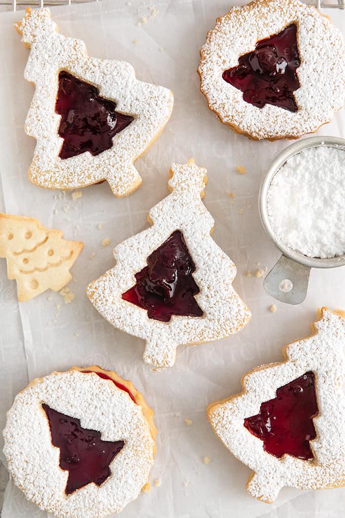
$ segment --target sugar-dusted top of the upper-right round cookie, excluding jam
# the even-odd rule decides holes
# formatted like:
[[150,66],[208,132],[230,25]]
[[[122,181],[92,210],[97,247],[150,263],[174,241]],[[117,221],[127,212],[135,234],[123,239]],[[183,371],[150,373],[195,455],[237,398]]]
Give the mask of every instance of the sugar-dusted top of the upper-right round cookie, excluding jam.
[[[266,104],[258,108],[222,79],[257,41],[297,24],[301,88],[297,112]],[[236,37],[234,37],[236,35]],[[345,97],[345,45],[340,31],[314,7],[298,0],[257,0],[217,19],[202,47],[199,74],[209,107],[234,131],[256,139],[298,138],[331,121]]]

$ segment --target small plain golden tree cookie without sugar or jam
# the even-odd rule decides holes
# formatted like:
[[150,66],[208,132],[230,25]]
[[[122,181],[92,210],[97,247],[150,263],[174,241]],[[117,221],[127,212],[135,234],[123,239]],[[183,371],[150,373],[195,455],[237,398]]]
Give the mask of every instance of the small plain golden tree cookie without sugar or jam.
[[8,278],[17,281],[20,302],[61,290],[82,249],[82,242],[66,241],[34,218],[0,213],[0,257],[6,257]]

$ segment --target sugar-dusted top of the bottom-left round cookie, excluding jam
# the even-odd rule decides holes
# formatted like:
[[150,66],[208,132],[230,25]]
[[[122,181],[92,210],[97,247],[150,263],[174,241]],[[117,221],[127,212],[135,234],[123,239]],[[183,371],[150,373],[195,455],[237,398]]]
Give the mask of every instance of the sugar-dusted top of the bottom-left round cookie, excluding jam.
[[[42,402],[99,430],[102,440],[125,442],[101,486],[87,484],[65,494],[68,472],[59,468],[59,449],[51,442]],[[53,372],[19,393],[4,430],[14,482],[41,509],[58,518],[104,518],[137,498],[153,465],[154,439],[142,409],[110,380],[78,370]]]

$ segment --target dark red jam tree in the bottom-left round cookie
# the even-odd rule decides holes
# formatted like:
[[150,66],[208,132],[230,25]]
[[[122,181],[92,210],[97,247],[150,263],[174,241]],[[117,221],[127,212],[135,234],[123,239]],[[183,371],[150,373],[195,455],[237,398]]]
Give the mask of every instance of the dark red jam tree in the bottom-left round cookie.
[[110,463],[124,441],[102,441],[96,430],[82,428],[80,420],[42,405],[50,426],[52,443],[60,450],[59,466],[68,471],[65,488],[70,495],[90,482],[100,486],[111,475]]

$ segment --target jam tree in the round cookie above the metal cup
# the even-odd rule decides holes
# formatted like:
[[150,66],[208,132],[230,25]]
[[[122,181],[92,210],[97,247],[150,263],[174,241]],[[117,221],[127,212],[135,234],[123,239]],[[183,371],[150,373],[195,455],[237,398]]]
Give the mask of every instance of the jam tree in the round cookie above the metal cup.
[[258,41],[238,65],[223,72],[223,79],[243,92],[243,98],[258,108],[273,104],[297,111],[293,92],[301,85],[296,68],[301,65],[294,23],[280,33]]

